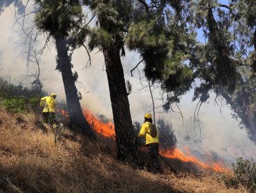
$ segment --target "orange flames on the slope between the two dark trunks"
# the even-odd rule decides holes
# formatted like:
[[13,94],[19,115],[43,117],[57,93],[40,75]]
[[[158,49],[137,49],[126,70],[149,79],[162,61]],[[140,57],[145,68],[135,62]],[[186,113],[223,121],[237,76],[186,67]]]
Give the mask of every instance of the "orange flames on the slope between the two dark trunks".
[[102,134],[103,136],[107,137],[115,137],[115,126],[111,121],[108,121],[107,123],[102,123],[100,119],[95,117],[93,113],[90,110],[83,110],[83,114],[85,119],[90,123],[90,125],[93,126],[93,129],[95,132],[98,132]]

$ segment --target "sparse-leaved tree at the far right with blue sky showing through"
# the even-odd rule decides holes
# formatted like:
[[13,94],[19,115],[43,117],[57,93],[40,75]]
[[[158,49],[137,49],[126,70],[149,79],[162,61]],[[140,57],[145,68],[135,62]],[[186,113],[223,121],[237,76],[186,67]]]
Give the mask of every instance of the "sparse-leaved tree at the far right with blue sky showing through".
[[209,91],[226,99],[256,143],[255,48],[256,2],[194,1],[196,27],[203,29],[205,45],[199,45],[191,63],[201,85],[194,99],[209,98]]

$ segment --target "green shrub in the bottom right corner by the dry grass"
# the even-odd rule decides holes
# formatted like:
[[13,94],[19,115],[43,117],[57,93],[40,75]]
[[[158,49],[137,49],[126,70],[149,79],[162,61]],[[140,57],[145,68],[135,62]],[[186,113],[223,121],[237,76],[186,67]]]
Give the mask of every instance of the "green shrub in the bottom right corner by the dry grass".
[[256,165],[253,159],[249,161],[239,157],[237,163],[232,163],[232,172],[232,176],[223,176],[227,187],[238,188],[242,185],[250,192],[256,192]]

